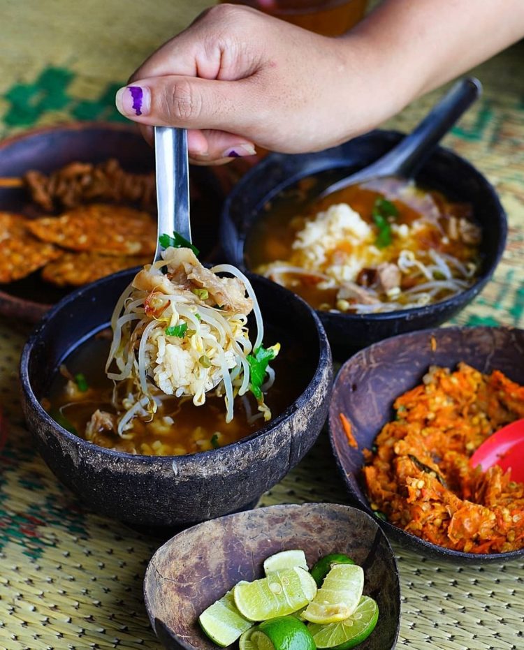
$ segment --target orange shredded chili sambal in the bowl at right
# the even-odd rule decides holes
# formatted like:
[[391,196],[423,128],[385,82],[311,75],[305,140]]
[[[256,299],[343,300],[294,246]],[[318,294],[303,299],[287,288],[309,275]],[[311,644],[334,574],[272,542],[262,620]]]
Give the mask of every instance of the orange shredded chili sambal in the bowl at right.
[[524,387],[500,371],[430,367],[398,397],[395,420],[365,450],[372,509],[439,546],[469,553],[524,547],[524,483],[499,466],[470,466],[474,450],[524,418]]

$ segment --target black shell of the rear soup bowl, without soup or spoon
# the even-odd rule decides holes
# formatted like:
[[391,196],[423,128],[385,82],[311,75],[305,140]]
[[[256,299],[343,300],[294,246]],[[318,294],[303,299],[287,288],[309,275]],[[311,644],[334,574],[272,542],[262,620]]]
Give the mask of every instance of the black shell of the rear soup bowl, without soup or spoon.
[[[307,179],[307,200],[312,200],[337,179],[376,161],[402,137],[393,131],[372,131],[322,152],[265,157],[242,177],[224,202],[221,229],[226,256],[240,268],[249,267],[246,241],[254,223],[267,214],[275,198],[284,191],[293,195],[297,190],[303,195],[301,188]],[[319,311],[335,357],[345,359],[381,339],[444,323],[482,290],[500,260],[507,219],[497,193],[479,170],[449,149],[437,147],[414,180],[421,187],[442,192],[450,200],[472,205],[474,218],[482,229],[479,275],[470,288],[442,302],[413,309],[367,314]]]

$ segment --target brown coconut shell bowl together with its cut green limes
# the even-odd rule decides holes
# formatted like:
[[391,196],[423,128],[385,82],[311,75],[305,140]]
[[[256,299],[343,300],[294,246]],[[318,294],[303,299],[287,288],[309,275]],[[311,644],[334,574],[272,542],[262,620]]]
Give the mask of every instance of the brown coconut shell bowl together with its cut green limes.
[[273,505],[198,524],[152,557],[147,613],[173,650],[389,650],[395,557],[361,510]]

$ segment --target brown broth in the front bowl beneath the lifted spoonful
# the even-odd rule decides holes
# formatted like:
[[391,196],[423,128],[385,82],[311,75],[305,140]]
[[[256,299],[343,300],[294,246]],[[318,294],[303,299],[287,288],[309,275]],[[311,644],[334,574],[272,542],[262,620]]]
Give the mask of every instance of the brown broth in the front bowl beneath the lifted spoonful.
[[[268,328],[268,338],[282,341],[282,352],[271,363],[276,378],[266,398],[275,418],[305,390],[314,365],[283,331]],[[150,422],[133,418],[132,428],[118,436],[104,429],[103,418],[108,416],[101,416],[99,426],[89,431],[95,411],[115,415],[113,382],[104,371],[109,348],[110,340],[100,335],[79,346],[66,358],[61,372],[54,375],[48,397],[43,400],[50,415],[81,438],[131,454],[185,455],[231,444],[265,424],[261,413],[253,420],[258,412],[251,393],[235,398],[234,418],[226,422],[222,397],[208,395],[203,406],[195,406],[191,397],[177,398],[158,391],[158,410]]]

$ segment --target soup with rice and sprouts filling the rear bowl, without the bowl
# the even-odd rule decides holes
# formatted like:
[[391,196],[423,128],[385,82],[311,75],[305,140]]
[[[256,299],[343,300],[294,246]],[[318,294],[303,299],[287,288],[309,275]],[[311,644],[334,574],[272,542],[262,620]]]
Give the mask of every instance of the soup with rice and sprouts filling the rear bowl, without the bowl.
[[402,179],[349,186],[323,200],[303,179],[267,206],[247,266],[315,309],[373,313],[438,302],[474,282],[481,232],[472,207]]

